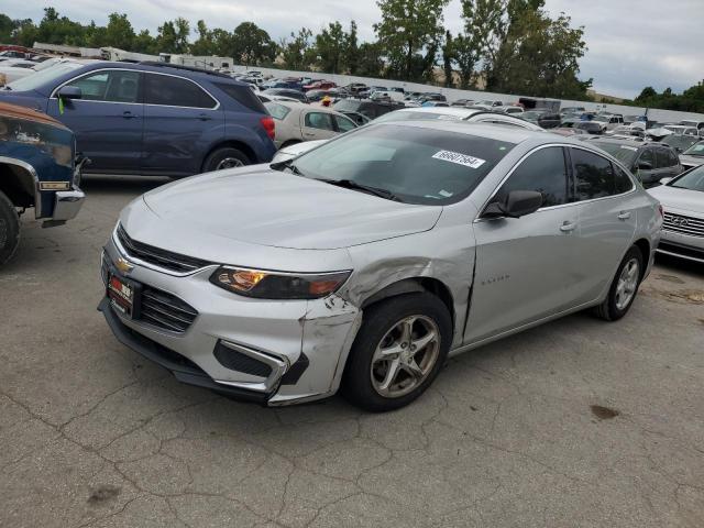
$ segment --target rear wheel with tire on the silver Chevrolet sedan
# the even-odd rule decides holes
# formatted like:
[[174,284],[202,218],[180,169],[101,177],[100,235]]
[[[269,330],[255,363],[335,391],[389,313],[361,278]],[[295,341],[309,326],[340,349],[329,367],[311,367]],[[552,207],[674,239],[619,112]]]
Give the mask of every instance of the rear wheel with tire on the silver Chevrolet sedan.
[[636,299],[642,272],[642,253],[634,245],[620,262],[606,299],[595,308],[596,316],[605,321],[617,321],[624,317]]

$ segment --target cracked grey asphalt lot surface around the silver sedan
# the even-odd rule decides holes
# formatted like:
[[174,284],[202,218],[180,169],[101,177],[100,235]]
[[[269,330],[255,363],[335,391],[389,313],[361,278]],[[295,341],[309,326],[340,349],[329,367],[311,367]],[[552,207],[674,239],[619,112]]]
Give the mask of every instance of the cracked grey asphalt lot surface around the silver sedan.
[[178,384],[96,306],[120,209],[23,217],[0,271],[2,527],[702,527],[704,270],[659,261],[616,323],[575,315],[450,361],[414,405],[264,409]]

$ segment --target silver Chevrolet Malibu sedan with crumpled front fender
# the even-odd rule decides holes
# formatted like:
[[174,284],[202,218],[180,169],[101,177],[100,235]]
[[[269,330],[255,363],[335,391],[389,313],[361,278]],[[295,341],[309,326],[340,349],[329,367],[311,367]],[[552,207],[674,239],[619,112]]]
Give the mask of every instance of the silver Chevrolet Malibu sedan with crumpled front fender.
[[102,254],[116,337],[182,382],[279,406],[409,404],[448,355],[594,308],[622,318],[658,201],[588,143],[380,123],[130,204]]

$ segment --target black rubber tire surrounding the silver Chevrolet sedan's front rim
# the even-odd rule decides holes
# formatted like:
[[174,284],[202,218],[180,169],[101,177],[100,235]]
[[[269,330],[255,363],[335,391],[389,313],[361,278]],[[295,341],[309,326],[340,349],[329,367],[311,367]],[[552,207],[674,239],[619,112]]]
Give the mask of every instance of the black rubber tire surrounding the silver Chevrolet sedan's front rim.
[[[387,337],[404,319],[420,316],[424,320],[432,321],[438,330],[439,342],[432,349],[435,363],[428,360],[427,373],[421,381],[414,381],[417,385],[407,394],[399,396],[383,396],[372,383],[372,361],[374,353]],[[429,293],[404,294],[382,300],[364,310],[364,319],[348,359],[342,380],[342,394],[352,404],[370,411],[382,413],[398,409],[410,404],[420,396],[437,377],[450,350],[452,341],[452,320],[444,304]],[[410,349],[408,349],[410,350]],[[430,353],[422,350],[422,354]],[[436,353],[437,352],[437,353]],[[408,352],[407,352],[408,353]],[[418,354],[419,352],[416,352]],[[420,358],[421,361],[422,358]],[[403,376],[413,376],[403,369]],[[410,385],[409,385],[410,386]]]

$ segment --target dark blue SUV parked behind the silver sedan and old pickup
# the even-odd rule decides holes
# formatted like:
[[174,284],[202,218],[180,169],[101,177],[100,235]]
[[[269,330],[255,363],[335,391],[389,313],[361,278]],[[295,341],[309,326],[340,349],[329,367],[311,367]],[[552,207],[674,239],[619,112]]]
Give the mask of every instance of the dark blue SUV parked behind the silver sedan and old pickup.
[[242,82],[167,63],[59,63],[11,82],[0,101],[58,119],[85,172],[188,176],[271,161],[274,120]]

